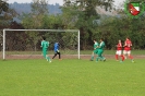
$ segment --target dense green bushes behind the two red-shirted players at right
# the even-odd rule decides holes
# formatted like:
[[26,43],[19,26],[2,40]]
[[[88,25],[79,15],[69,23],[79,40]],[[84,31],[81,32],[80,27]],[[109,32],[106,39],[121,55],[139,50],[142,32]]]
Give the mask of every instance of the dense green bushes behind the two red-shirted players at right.
[[98,27],[99,35],[105,38],[108,49],[114,49],[119,39],[123,44],[126,37],[131,38],[133,49],[143,49],[145,47],[143,19],[107,17]]

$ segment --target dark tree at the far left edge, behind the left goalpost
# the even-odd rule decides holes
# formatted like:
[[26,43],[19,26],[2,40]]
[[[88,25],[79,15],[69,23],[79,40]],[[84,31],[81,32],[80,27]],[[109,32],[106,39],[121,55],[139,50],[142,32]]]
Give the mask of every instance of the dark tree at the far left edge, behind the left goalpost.
[[[0,0],[0,32],[2,33],[3,28],[13,28],[13,17],[16,17],[17,13],[15,12],[14,9],[9,8],[9,3]],[[0,33],[0,34],[1,34]],[[13,41],[12,39],[10,39],[10,37],[12,36],[12,33],[9,33],[7,35],[7,38],[9,38],[7,40],[7,43],[11,45],[11,43]],[[2,36],[0,36],[0,41],[2,41]],[[2,43],[1,43],[2,44]]]

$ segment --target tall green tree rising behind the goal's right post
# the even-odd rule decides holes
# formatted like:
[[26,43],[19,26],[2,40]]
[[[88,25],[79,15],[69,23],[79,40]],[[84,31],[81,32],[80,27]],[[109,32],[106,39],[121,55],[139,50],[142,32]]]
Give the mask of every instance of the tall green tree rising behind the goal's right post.
[[64,0],[61,9],[67,21],[65,26],[73,23],[74,26],[71,28],[81,31],[81,49],[85,49],[90,44],[93,34],[97,29],[98,25],[94,23],[100,17],[96,11],[97,7],[110,11],[113,8],[112,2],[113,0]]

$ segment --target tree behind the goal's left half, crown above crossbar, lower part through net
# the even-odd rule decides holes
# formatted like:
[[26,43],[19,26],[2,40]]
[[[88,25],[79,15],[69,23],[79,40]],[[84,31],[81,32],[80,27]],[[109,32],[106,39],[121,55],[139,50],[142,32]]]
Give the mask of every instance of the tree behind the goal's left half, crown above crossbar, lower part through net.
[[[48,9],[47,9],[48,2],[46,0],[33,0],[32,3],[32,12],[26,14],[22,14],[22,25],[24,28],[41,28],[43,26],[43,19],[45,15],[48,15]],[[31,39],[34,41],[35,50],[36,50],[36,45],[39,39],[39,33],[31,33],[26,32],[29,36]],[[27,39],[28,40],[28,39]]]

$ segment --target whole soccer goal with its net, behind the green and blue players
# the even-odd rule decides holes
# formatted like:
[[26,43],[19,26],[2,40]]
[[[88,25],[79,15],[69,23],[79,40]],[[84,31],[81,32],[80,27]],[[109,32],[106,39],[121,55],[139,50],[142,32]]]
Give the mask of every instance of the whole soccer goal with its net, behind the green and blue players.
[[78,29],[3,29],[2,57],[4,59],[39,59],[41,36],[50,46],[48,55],[53,56],[53,44],[60,44],[62,58],[80,59]]

